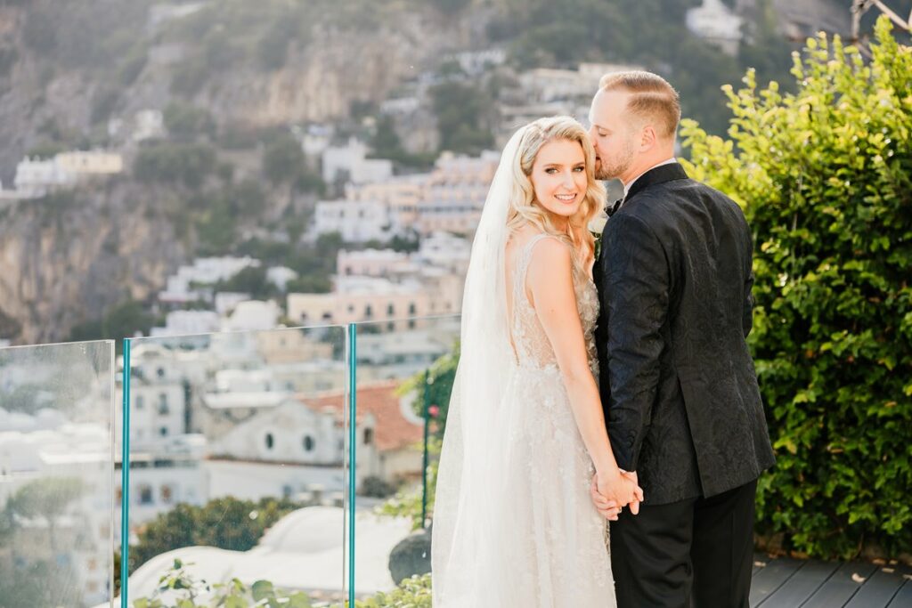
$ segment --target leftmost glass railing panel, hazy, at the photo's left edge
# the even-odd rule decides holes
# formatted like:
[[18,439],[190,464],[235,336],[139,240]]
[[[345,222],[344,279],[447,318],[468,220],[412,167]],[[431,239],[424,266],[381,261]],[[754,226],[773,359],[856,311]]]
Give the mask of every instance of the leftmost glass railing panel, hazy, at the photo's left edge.
[[0,349],[0,605],[110,606],[114,343]]

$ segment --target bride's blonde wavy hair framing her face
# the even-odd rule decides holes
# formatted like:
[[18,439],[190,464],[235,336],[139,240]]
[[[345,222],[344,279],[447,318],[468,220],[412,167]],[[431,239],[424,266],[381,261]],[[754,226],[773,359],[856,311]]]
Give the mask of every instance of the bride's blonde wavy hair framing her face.
[[[568,116],[537,119],[529,123],[520,139],[519,149],[513,162],[513,186],[510,192],[510,211],[507,212],[507,228],[513,235],[529,223],[542,232],[553,234],[571,245],[577,261],[588,259],[595,251],[595,238],[589,232],[592,221],[605,205],[605,186],[596,180],[596,150],[577,120]],[[586,196],[579,211],[570,217],[570,231],[560,232],[544,207],[535,201],[532,184],[532,166],[544,144],[554,140],[576,141],[583,148],[586,157]]]

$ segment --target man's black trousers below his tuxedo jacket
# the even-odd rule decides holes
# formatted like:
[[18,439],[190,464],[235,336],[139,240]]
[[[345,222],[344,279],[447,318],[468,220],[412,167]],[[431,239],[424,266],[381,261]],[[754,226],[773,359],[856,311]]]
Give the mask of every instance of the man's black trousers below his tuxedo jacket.
[[755,479],[612,521],[617,608],[749,608],[756,493]]

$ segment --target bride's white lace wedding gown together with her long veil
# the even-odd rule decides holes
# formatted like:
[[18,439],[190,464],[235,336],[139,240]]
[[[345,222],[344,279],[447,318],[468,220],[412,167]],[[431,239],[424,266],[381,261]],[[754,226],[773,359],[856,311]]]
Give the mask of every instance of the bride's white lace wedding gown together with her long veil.
[[[434,608],[617,605],[606,521],[589,499],[592,463],[526,298],[535,244],[555,237],[536,235],[512,251],[513,283],[506,280],[506,222],[520,195],[514,168],[528,132],[517,130],[503,149],[472,242],[433,511]],[[581,268],[573,277],[595,373],[596,287]]]

